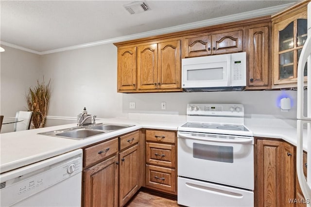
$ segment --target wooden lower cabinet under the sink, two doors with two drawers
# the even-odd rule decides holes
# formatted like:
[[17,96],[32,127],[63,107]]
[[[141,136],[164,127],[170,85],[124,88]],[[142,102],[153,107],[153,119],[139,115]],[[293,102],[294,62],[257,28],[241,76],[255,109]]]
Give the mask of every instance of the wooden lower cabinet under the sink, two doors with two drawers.
[[84,207],[122,207],[139,190],[144,173],[139,142],[138,130],[84,149]]

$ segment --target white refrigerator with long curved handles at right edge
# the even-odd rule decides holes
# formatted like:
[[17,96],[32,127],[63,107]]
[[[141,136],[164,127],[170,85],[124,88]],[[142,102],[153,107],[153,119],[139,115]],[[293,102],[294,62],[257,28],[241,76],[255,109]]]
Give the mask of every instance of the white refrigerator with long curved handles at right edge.
[[[304,93],[304,67],[308,61],[307,96]],[[307,207],[311,207],[311,2],[308,4],[308,38],[301,51],[298,62],[297,82],[297,175]],[[304,110],[304,102],[307,109]],[[307,139],[303,139],[303,127],[307,127]],[[303,140],[305,143],[303,143]],[[307,180],[303,174],[303,144],[307,146]]]

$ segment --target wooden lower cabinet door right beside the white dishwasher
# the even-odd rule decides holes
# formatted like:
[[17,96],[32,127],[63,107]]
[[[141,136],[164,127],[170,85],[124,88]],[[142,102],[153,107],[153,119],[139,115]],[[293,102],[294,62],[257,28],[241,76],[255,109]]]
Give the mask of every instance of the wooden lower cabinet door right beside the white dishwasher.
[[84,170],[84,206],[118,207],[118,156]]

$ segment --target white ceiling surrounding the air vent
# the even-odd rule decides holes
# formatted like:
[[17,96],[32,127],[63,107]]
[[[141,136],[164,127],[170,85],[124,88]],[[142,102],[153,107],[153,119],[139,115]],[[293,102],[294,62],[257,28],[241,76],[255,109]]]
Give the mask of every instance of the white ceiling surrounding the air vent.
[[296,1],[146,0],[151,10],[135,15],[123,7],[130,2],[133,1],[1,0],[0,40],[2,44],[44,52]]

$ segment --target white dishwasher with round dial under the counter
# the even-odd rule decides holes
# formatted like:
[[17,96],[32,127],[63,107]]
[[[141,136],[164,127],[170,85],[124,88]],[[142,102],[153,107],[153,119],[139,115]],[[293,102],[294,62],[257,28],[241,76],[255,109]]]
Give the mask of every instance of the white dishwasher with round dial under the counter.
[[0,175],[0,206],[80,207],[82,149]]

